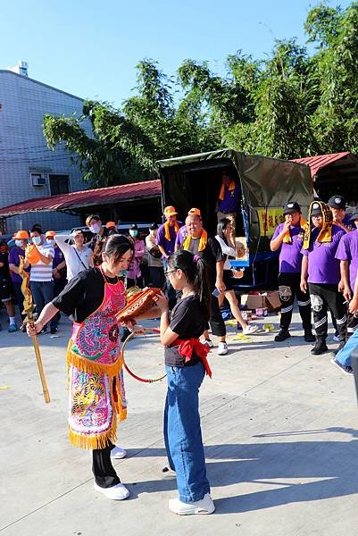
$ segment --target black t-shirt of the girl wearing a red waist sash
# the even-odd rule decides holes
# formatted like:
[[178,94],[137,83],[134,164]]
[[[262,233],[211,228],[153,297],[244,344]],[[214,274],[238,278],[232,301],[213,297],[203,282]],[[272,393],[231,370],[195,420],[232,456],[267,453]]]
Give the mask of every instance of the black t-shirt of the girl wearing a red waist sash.
[[[199,339],[205,329],[205,323],[197,296],[187,296],[179,299],[177,305],[171,311],[169,327],[179,335],[179,339]],[[164,356],[165,364],[169,366],[190,366],[200,361],[195,352],[193,352],[190,361],[185,363],[185,357],[179,355],[178,346],[165,347]]]

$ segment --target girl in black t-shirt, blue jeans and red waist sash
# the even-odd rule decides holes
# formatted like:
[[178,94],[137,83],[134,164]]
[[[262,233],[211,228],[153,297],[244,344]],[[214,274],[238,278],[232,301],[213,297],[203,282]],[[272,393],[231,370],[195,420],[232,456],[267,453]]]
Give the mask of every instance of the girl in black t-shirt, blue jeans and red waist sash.
[[162,296],[157,301],[168,379],[164,440],[179,491],[179,498],[172,498],[169,507],[179,515],[212,514],[215,507],[206,478],[198,396],[205,370],[211,375],[206,361],[209,349],[199,341],[209,316],[205,264],[189,251],[177,251],[169,257],[165,275],[182,292],[171,316],[167,299]]

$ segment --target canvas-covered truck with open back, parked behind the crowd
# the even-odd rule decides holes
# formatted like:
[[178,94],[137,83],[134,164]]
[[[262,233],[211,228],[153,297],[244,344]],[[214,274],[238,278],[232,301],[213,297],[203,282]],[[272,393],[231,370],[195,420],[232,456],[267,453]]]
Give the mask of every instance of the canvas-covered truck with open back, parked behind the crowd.
[[162,182],[162,206],[174,205],[183,219],[190,208],[200,208],[204,229],[212,236],[216,234],[222,171],[238,181],[242,195],[236,235],[244,243],[246,255],[232,260],[231,265],[245,270],[241,288],[270,286],[277,275],[278,256],[271,252],[271,236],[283,222],[286,203],[296,201],[307,216],[313,199],[310,168],[232,148],[159,160],[156,167]]

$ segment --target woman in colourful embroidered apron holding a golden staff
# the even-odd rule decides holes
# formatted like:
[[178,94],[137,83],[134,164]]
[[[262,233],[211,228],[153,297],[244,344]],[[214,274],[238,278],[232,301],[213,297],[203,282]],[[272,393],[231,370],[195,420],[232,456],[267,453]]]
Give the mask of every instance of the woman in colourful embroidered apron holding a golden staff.
[[31,336],[58,311],[71,314],[74,322],[67,352],[70,440],[74,447],[93,451],[95,490],[117,500],[129,497],[129,490],[111,463],[117,418],[124,420],[127,413],[115,314],[126,301],[118,274],[128,269],[132,255],[133,246],[126,237],[111,236],[104,245],[103,263],[74,277],[44,307],[34,328],[28,327]]

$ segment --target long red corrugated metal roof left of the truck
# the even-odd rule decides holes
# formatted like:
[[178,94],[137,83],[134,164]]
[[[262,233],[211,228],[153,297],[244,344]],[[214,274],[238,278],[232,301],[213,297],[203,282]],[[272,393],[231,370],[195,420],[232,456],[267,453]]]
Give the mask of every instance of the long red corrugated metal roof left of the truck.
[[59,196],[37,197],[0,208],[0,216],[12,216],[27,212],[51,212],[71,210],[82,206],[110,205],[119,201],[161,195],[161,181],[147,180],[133,184],[121,184],[109,188],[96,188],[60,194]]

